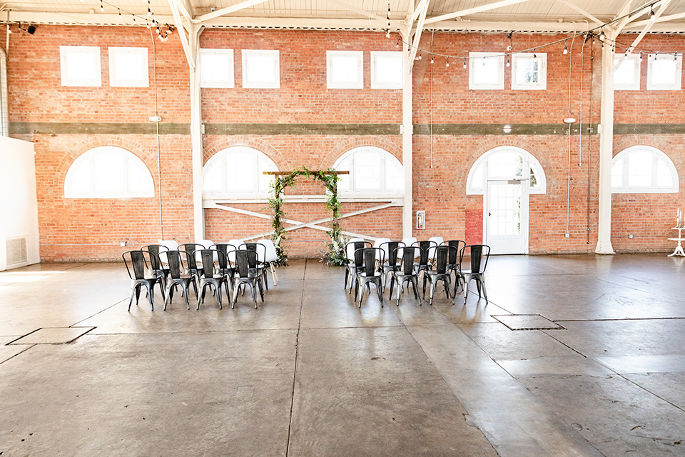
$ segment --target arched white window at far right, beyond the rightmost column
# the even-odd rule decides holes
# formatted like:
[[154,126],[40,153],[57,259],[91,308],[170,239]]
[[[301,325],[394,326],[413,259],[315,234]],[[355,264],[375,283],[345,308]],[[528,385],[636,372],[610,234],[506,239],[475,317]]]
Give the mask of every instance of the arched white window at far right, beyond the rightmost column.
[[678,171],[669,156],[651,146],[631,146],[612,160],[612,193],[678,192]]

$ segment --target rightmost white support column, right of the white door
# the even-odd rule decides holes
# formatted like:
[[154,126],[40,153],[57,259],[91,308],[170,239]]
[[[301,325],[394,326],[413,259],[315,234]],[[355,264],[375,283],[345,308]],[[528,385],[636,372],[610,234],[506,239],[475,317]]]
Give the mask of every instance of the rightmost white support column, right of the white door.
[[599,226],[598,254],[613,254],[612,248],[612,159],[614,156],[614,31],[602,46],[602,106],[599,115]]

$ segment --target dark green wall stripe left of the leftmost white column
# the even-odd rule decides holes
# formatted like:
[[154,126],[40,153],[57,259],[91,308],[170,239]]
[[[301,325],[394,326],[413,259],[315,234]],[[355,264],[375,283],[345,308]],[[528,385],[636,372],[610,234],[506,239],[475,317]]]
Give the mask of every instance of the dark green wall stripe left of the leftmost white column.
[[[14,135],[155,135],[154,122],[11,122],[9,133]],[[190,135],[190,124],[160,122],[161,135]]]

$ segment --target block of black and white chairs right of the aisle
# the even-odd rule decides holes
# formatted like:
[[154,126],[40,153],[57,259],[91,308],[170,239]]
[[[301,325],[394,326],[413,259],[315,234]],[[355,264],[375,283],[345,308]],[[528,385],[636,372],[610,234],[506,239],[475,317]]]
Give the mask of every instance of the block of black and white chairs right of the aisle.
[[[485,290],[485,268],[489,258],[490,248],[484,244],[467,246],[465,241],[451,240],[438,245],[435,241],[417,241],[411,246],[405,246],[402,241],[387,241],[380,246],[372,247],[369,241],[352,241],[345,246],[347,268],[345,269],[345,286],[350,282],[350,293],[355,288],[355,301],[359,298],[362,306],[364,287],[371,292],[370,284],[376,286],[378,299],[383,305],[382,293],[387,281],[390,281],[390,297],[392,289],[397,283],[397,306],[405,283],[411,283],[415,298],[422,304],[418,293],[418,281],[423,274],[423,297],[426,286],[430,285],[430,304],[437,283],[442,281],[447,298],[455,303],[457,288],[462,285],[464,303],[469,293],[469,283],[476,281],[478,297],[484,296],[488,303]],[[470,269],[462,268],[465,256],[470,257]],[[452,290],[452,273],[455,281]]]

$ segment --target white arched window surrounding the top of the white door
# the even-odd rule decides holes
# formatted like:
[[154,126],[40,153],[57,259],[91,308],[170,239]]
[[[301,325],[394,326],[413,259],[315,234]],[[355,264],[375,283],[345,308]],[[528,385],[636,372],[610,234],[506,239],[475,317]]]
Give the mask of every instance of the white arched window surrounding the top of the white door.
[[539,161],[516,146],[499,146],[480,156],[466,180],[467,195],[482,195],[488,180],[528,180],[529,194],[547,194],[547,178]]

